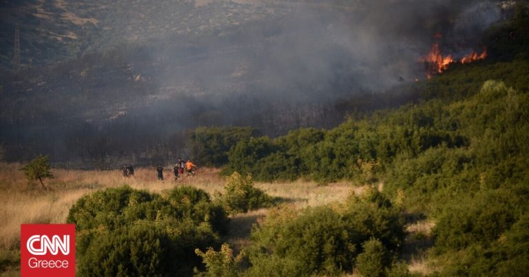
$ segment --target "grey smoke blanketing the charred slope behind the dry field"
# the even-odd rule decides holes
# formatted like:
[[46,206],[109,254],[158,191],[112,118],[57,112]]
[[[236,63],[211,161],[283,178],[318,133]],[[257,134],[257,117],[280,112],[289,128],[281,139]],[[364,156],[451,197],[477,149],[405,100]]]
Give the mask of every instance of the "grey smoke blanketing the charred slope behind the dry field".
[[499,1],[479,0],[125,2],[105,2],[115,12],[81,58],[5,79],[12,159],[148,163],[185,152],[196,126],[331,127],[349,112],[336,101],[424,79],[433,43],[468,54],[501,19]]

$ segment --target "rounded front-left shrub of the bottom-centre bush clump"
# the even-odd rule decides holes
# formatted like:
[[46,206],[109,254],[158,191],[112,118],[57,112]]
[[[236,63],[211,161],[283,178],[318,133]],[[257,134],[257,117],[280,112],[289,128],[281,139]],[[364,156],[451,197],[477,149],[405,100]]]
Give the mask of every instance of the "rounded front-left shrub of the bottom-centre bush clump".
[[354,230],[327,207],[305,210],[281,225],[263,226],[253,231],[251,239],[250,276],[336,274],[351,270],[357,254]]

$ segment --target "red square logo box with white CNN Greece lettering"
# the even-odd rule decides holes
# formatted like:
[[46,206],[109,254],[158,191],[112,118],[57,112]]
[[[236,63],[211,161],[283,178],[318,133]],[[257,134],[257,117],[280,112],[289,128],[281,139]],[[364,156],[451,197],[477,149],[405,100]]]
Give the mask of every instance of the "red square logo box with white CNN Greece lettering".
[[20,225],[21,276],[75,276],[74,224]]

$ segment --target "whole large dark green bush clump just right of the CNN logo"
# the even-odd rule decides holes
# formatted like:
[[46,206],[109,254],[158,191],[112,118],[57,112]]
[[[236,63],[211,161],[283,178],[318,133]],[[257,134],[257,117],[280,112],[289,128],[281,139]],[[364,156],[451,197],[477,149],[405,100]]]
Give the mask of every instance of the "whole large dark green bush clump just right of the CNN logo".
[[76,224],[81,276],[189,276],[195,249],[219,245],[228,219],[203,190],[174,188],[166,197],[127,186],[81,197]]

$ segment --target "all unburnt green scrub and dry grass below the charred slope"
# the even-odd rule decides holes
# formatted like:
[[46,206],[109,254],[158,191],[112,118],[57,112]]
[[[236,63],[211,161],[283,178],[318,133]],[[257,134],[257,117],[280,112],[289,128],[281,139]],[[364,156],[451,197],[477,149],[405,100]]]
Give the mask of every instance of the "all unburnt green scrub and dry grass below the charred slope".
[[20,223],[69,222],[80,276],[523,276],[528,26],[520,8],[487,60],[333,129],[198,129],[200,161],[221,169],[196,177],[54,170],[43,191],[3,164],[1,269],[17,270]]

